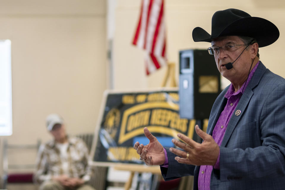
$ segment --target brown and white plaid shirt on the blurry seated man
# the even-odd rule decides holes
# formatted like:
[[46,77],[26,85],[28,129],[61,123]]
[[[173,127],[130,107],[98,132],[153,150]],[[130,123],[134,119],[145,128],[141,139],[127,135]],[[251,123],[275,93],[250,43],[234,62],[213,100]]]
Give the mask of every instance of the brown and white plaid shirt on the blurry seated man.
[[88,164],[88,148],[85,143],[77,137],[68,137],[67,143],[67,152],[64,154],[54,140],[41,145],[34,175],[37,182],[51,180],[52,177],[60,175],[90,180],[92,171]]

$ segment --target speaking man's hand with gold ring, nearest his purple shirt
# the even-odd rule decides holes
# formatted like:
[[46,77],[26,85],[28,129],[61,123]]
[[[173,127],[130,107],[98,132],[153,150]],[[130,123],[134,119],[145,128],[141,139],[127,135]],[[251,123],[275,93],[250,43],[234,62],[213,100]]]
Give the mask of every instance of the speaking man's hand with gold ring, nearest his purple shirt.
[[[178,155],[175,160],[183,164],[200,165],[215,165],[219,156],[220,148],[213,137],[202,131],[198,125],[195,126],[196,133],[204,140],[202,144],[195,142],[183,134],[177,136],[183,140],[182,143],[176,139],[172,139],[172,143],[182,148],[185,151],[180,151],[176,148],[170,148],[170,152]],[[189,157],[187,158],[187,152]]]

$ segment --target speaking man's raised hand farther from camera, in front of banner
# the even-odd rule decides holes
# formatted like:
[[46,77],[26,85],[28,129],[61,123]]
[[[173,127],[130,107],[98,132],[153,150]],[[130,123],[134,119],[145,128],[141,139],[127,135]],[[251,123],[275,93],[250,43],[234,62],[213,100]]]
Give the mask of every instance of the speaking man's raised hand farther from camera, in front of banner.
[[154,137],[148,128],[144,128],[143,132],[149,139],[147,145],[140,144],[139,142],[134,143],[134,149],[140,155],[140,158],[144,160],[145,164],[150,165],[161,165],[165,162],[164,148],[159,141]]

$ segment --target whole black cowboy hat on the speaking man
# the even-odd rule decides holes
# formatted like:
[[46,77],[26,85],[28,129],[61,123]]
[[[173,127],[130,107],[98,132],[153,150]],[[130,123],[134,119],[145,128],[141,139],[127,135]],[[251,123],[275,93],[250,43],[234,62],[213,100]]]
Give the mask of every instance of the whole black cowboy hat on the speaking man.
[[252,17],[239,9],[217,11],[212,17],[212,34],[204,29],[193,29],[194,42],[211,42],[221,36],[246,36],[257,40],[259,47],[274,43],[279,37],[278,28],[269,20]]

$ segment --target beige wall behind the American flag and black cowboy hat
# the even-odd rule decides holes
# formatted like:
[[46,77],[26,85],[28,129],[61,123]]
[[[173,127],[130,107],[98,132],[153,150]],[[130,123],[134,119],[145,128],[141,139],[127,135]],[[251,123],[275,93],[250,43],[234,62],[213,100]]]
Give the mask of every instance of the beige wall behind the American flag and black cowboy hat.
[[[163,68],[149,77],[143,67],[143,50],[131,45],[137,26],[141,1],[118,0],[116,9],[116,33],[114,39],[115,88],[160,87],[166,69]],[[194,42],[192,30],[200,26],[210,33],[211,18],[215,11],[237,8],[251,16],[266,18],[280,30],[277,42],[259,49],[260,60],[267,68],[285,77],[285,65],[282,63],[285,44],[285,1],[240,0],[240,1],[194,1],[165,0],[167,25],[167,53],[169,61],[175,62],[178,81],[178,51],[183,49],[205,49],[208,42]],[[126,71],[130,72],[126,72]]]

